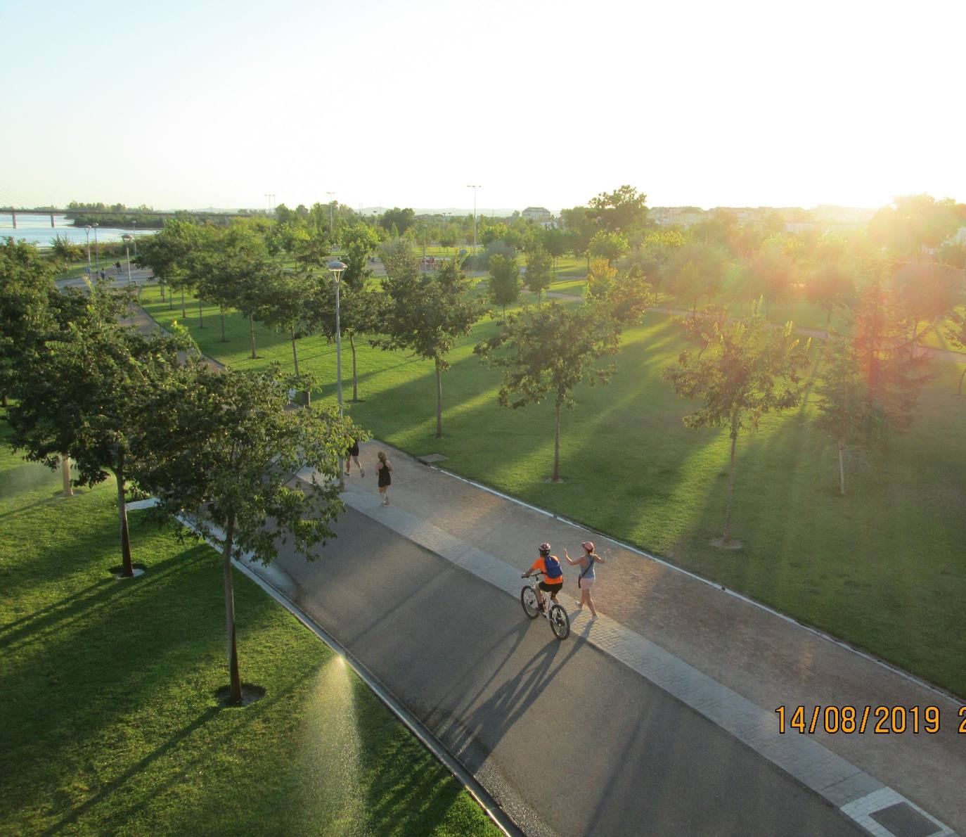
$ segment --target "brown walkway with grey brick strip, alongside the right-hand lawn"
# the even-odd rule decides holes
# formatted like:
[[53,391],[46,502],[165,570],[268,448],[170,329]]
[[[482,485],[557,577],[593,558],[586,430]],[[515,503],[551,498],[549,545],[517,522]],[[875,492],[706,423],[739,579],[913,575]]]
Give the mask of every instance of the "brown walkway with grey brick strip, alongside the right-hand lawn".
[[[388,507],[379,505],[376,449],[385,450],[394,467]],[[554,551],[567,546],[579,554],[590,537],[607,559],[594,587],[602,618],[590,622],[568,607],[575,632],[871,833],[916,833],[912,823],[924,812],[938,822],[918,821],[921,833],[966,830],[966,736],[956,735],[953,723],[961,702],[736,594],[382,443],[364,445],[362,459],[366,476],[347,478],[348,505],[510,595],[519,595],[520,573],[536,544],[550,540]],[[565,567],[571,592],[576,575]],[[860,716],[866,706],[937,706],[944,723],[934,736],[873,735],[872,724],[862,735],[780,735],[776,707],[799,705],[860,707]]]

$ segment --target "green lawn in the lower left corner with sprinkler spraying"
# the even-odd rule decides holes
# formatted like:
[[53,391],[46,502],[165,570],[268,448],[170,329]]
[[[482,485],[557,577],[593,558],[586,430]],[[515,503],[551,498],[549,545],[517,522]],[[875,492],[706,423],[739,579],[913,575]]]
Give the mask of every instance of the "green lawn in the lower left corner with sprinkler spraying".
[[497,834],[339,658],[236,574],[241,676],[220,709],[220,562],[131,512],[116,581],[113,483],[60,476],[0,424],[0,833]]

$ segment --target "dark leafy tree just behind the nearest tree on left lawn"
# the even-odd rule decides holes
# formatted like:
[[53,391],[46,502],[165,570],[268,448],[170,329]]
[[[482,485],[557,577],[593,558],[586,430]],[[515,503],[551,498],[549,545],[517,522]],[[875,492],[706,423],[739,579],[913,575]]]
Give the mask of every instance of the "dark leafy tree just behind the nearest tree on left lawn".
[[71,295],[54,328],[37,341],[22,363],[14,390],[18,403],[8,418],[12,445],[28,459],[56,468],[63,457],[75,463],[77,485],[115,476],[121,532],[122,575],[132,576],[125,488],[128,469],[155,437],[151,415],[141,405],[167,386],[184,343],[169,336],[146,337],[116,324],[127,297],[112,297],[106,283],[90,300]]

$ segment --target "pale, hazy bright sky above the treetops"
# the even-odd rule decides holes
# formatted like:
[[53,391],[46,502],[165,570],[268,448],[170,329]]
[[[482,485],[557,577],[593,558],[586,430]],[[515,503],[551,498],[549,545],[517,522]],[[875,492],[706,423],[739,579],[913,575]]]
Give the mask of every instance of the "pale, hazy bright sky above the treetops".
[[0,0],[0,21],[0,205],[966,201],[963,0]]

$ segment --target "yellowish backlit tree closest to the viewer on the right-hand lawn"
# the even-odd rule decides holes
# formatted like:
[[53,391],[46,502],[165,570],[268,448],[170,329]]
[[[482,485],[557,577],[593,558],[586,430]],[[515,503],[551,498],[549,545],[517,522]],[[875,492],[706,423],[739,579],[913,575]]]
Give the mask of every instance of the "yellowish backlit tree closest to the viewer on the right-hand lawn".
[[791,322],[781,329],[768,328],[757,305],[750,316],[724,326],[715,320],[706,324],[713,331],[701,335],[704,352],[697,357],[690,351],[682,352],[664,374],[678,395],[704,402],[684,417],[685,426],[728,428],[731,454],[722,534],[726,545],[731,540],[738,435],[745,429],[757,429],[764,414],[778,413],[801,402],[805,385],[799,370],[809,364],[808,344],[799,344]]

